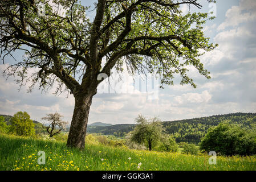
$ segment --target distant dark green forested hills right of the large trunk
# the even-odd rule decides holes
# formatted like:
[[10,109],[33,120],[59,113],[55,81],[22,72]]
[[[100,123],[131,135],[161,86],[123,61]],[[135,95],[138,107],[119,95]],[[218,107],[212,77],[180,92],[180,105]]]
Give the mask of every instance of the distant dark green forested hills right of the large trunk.
[[[213,115],[210,117],[183,119],[180,121],[162,122],[166,133],[173,134],[177,142],[198,143],[207,133],[209,127],[217,126],[220,122],[236,123],[241,127],[252,129],[256,126],[256,113],[234,113]],[[124,137],[133,130],[135,125],[112,125],[106,127],[88,127],[89,133],[101,133]]]

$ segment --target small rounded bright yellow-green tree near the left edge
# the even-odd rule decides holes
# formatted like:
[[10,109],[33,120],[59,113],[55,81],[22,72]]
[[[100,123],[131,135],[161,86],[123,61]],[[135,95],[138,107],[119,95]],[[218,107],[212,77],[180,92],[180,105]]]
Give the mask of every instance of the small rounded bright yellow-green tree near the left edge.
[[35,125],[30,119],[30,115],[27,112],[19,111],[13,115],[10,119],[10,133],[19,136],[33,136],[35,135]]

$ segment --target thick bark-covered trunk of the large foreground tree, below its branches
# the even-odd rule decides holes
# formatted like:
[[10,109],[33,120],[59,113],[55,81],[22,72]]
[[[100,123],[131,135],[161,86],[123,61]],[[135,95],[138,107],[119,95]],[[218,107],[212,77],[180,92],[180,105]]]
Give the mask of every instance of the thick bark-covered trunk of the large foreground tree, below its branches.
[[70,133],[68,134],[67,146],[73,148],[84,149],[86,140],[86,129],[89,117],[90,106],[92,104],[92,97],[96,94],[81,94],[75,96],[75,108],[70,126]]

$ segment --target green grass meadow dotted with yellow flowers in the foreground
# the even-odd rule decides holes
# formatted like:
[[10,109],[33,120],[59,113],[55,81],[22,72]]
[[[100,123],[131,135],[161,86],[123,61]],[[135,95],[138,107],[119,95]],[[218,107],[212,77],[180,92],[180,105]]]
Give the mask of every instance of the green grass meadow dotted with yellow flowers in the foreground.
[[[38,151],[46,153],[46,164],[39,165]],[[129,160],[131,158],[131,160]],[[103,160],[101,160],[103,159]],[[83,151],[66,147],[64,142],[11,137],[0,134],[0,170],[256,170],[256,156],[217,156],[217,165],[207,155],[138,151],[121,147],[86,145]],[[138,164],[142,163],[140,168]]]

